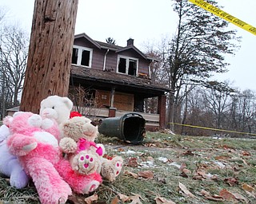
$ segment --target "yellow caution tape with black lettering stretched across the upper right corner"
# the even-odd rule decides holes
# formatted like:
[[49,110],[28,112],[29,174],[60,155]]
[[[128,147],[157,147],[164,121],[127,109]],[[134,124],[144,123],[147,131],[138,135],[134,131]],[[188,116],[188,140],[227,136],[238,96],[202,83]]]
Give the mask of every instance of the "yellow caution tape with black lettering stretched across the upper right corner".
[[210,13],[212,13],[220,18],[223,18],[224,20],[226,20],[228,22],[233,23],[235,26],[239,26],[240,28],[245,29],[248,32],[256,35],[256,28],[254,26],[250,26],[248,23],[242,22],[238,18],[235,18],[234,16],[227,14],[225,11],[218,9],[215,6],[212,6],[210,3],[207,3],[203,0],[188,0],[188,1],[194,3],[195,5],[202,7],[204,10],[210,11]]

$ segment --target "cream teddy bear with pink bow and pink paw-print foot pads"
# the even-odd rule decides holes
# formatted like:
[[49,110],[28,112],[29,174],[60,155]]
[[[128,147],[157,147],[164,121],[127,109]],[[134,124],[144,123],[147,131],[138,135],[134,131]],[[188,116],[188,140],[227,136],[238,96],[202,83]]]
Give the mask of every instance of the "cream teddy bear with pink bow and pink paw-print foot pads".
[[[64,138],[59,145],[75,171],[88,174],[96,170],[103,179],[110,182],[116,179],[122,170],[123,159],[120,156],[105,158],[105,147],[94,142],[98,137],[98,126],[94,122],[84,116],[74,116],[62,124],[61,130]],[[81,155],[83,152],[88,159]]]

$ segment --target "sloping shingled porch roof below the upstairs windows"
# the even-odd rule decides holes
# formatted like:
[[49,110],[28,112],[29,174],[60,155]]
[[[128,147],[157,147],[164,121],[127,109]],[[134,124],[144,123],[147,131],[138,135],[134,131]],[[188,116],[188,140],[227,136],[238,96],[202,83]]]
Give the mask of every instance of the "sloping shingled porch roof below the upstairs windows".
[[71,66],[71,73],[72,77],[80,78],[84,82],[89,81],[91,84],[103,83],[105,85],[108,84],[110,87],[125,88],[126,90],[128,85],[133,92],[145,92],[152,96],[170,92],[170,88],[167,88],[165,85],[143,77],[128,76],[99,69],[82,68],[76,65]]

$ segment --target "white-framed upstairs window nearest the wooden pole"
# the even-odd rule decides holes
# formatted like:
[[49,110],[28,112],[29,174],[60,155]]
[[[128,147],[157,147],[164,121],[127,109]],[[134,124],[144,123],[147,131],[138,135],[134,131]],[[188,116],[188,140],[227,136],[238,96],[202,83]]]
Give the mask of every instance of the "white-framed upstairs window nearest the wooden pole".
[[90,68],[92,56],[93,56],[93,49],[74,45],[73,53],[72,53],[72,64],[82,65]]

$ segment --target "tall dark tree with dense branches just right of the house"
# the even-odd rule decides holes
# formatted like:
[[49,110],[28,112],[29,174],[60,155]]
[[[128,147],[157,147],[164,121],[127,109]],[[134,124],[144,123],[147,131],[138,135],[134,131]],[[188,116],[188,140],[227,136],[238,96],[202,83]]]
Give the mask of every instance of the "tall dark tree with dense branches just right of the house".
[[187,0],[174,1],[174,11],[178,14],[177,32],[163,54],[164,75],[174,90],[169,98],[170,122],[174,122],[174,110],[185,98],[181,97],[182,88],[187,94],[184,84],[202,84],[213,73],[225,72],[225,55],[234,54],[238,48],[234,42],[239,40],[234,30],[226,30],[228,22]]

